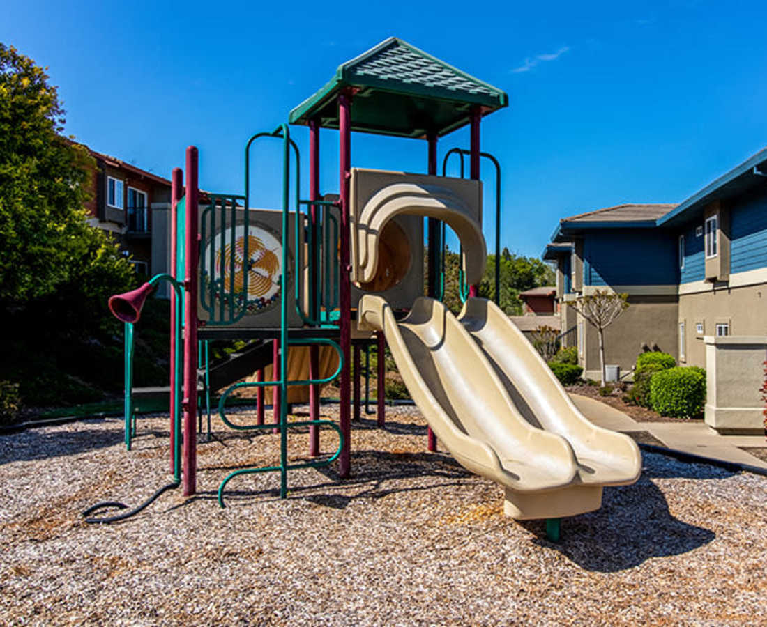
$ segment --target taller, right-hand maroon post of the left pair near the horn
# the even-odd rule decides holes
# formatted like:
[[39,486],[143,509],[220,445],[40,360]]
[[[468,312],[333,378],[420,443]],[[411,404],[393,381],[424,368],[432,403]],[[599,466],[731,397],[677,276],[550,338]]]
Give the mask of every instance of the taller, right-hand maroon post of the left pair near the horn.
[[199,202],[198,153],[195,146],[186,149],[186,244],[184,287],[184,496],[197,490],[197,212]]

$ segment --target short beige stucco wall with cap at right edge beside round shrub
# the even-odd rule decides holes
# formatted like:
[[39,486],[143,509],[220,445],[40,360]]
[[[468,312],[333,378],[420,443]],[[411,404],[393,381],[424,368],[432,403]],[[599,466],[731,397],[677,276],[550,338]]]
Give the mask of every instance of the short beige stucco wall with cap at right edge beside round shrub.
[[723,433],[764,430],[767,336],[706,336],[706,424]]

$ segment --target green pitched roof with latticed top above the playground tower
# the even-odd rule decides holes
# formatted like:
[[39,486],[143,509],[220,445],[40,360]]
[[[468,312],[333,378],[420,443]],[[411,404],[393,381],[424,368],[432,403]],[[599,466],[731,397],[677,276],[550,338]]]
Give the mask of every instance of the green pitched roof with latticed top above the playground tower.
[[291,124],[338,128],[338,95],[354,90],[351,129],[403,137],[435,132],[442,136],[469,123],[472,107],[482,113],[506,107],[509,97],[420,51],[390,37],[338,66],[334,77],[291,111]]

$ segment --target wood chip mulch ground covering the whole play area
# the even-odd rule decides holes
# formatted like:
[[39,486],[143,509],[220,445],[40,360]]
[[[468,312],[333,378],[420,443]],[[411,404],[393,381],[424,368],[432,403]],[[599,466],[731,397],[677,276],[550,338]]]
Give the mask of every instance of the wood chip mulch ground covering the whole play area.
[[[337,405],[324,405],[334,418]],[[87,525],[95,501],[137,504],[167,481],[167,418],[101,419],[0,437],[0,624],[635,625],[767,621],[767,479],[645,454],[600,510],[502,514],[502,489],[425,450],[415,408],[354,426],[353,476],[274,463],[278,436],[216,420],[199,494],[164,494],[130,520]],[[304,416],[300,416],[301,419]],[[248,412],[233,419],[252,421]],[[305,433],[291,435],[296,459]],[[323,450],[334,447],[323,432]]]

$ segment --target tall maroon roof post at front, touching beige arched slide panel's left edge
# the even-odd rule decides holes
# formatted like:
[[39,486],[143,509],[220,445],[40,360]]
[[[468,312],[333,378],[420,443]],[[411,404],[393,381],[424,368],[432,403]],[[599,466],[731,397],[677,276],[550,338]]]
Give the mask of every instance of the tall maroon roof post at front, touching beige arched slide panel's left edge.
[[339,306],[341,307],[341,353],[344,356],[344,368],[341,369],[341,405],[338,422],[344,435],[344,447],[338,457],[338,474],[341,478],[349,476],[351,465],[351,416],[349,397],[351,392],[351,369],[349,368],[349,349],[351,347],[351,277],[349,265],[349,222],[351,189],[351,94],[338,97],[338,130],[340,136],[339,156],[341,174],[341,284],[339,286]]

